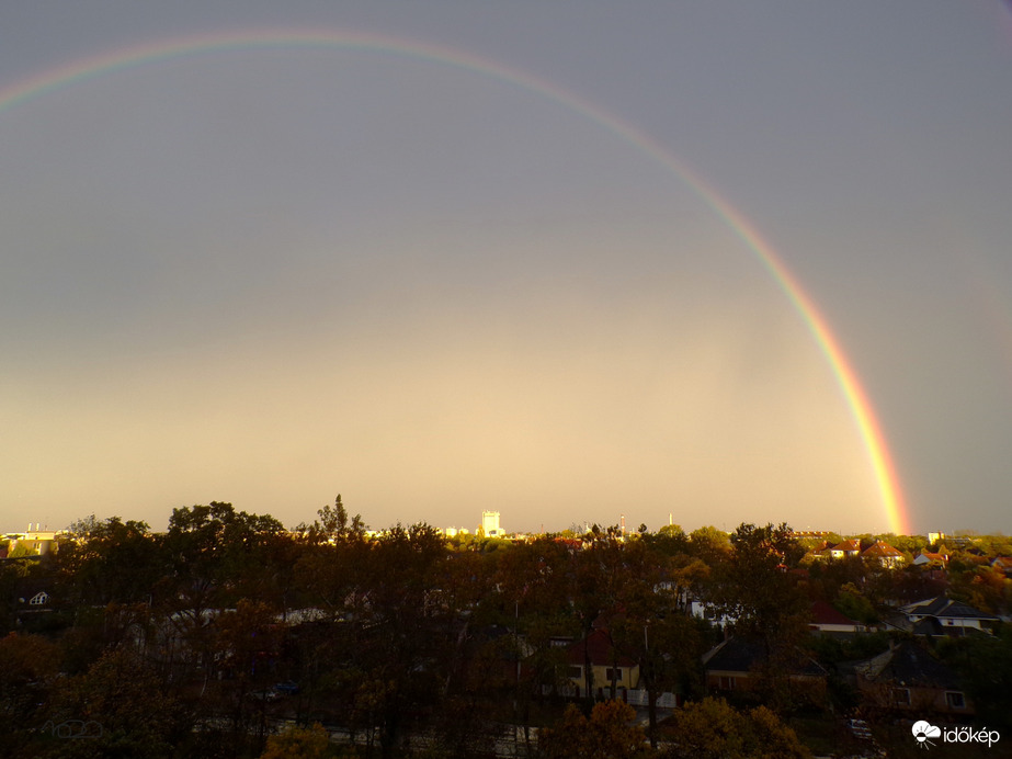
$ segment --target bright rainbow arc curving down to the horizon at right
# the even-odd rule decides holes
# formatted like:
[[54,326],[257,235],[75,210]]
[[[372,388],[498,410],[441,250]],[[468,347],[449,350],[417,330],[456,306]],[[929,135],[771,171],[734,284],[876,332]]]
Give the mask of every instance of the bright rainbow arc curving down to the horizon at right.
[[874,471],[889,528],[897,534],[909,532],[909,514],[902,500],[899,478],[872,404],[826,318],[781,257],[742,214],[667,148],[632,124],[550,82],[460,50],[397,37],[343,30],[247,30],[192,35],[117,48],[111,53],[43,71],[0,90],[0,114],[47,93],[122,69],[191,55],[278,47],[339,47],[349,50],[383,53],[411,60],[425,60],[441,66],[466,69],[537,93],[585,116],[678,175],[755,254],[805,320],[829,362],[851,409]]

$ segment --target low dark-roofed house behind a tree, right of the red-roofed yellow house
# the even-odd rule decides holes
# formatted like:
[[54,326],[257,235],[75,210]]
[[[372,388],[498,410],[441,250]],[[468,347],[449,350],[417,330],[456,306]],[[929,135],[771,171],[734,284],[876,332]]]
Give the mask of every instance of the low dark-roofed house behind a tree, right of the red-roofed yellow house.
[[[706,688],[710,691],[753,690],[762,680],[769,654],[763,644],[731,637],[703,655]],[[774,668],[793,686],[819,699],[826,692],[828,672],[800,649],[789,652],[787,661]]]

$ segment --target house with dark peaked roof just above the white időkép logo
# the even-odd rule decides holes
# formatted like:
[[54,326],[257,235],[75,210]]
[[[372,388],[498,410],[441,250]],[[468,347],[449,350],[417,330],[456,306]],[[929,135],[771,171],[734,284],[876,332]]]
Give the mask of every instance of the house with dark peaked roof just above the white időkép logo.
[[905,641],[854,671],[866,703],[911,718],[973,715],[974,705],[955,673],[913,641]]

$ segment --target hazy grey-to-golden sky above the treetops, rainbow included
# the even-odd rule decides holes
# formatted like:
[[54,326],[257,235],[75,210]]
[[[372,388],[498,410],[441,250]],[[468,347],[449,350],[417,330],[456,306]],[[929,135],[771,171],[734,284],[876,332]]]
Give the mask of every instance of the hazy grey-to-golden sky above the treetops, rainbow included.
[[0,1],[0,530],[1012,530],[1000,2]]

